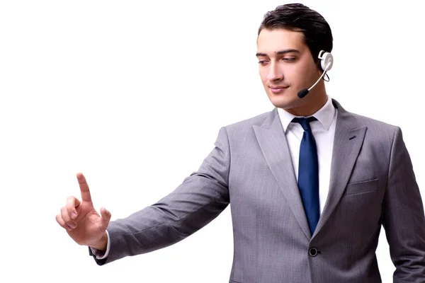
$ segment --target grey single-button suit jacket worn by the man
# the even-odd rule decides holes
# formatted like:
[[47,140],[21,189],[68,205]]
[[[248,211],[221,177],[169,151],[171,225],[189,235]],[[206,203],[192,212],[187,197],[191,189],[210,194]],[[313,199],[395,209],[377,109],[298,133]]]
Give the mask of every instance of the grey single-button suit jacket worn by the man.
[[310,234],[277,110],[220,129],[198,172],[111,221],[99,265],[170,246],[230,204],[234,283],[381,282],[381,225],[394,282],[425,282],[424,207],[399,127],[338,109],[329,196]]

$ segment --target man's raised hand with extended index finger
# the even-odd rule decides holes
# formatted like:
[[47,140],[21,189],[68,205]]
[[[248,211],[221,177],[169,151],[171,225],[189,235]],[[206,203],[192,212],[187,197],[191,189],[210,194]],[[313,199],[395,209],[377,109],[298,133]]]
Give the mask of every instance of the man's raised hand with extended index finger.
[[102,207],[99,215],[91,202],[86,178],[82,173],[78,173],[77,179],[81,190],[81,202],[76,197],[68,197],[67,205],[60,209],[56,221],[79,245],[106,250],[108,242],[106,228],[111,220],[111,213]]

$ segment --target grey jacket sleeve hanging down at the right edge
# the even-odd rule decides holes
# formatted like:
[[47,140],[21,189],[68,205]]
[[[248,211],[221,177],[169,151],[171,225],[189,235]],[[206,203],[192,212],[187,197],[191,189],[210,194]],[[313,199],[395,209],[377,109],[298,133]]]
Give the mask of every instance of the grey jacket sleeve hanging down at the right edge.
[[396,267],[394,282],[425,282],[424,206],[399,127],[392,143],[382,225]]

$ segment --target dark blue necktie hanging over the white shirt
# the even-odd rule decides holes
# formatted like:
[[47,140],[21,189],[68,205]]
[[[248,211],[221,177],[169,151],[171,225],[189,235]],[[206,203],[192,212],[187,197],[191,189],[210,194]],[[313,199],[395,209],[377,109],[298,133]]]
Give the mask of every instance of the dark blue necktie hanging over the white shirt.
[[319,221],[319,161],[317,160],[317,147],[314,140],[310,122],[317,120],[314,117],[294,118],[293,122],[301,124],[304,129],[300,146],[300,163],[298,166],[298,188],[308,226],[313,235]]

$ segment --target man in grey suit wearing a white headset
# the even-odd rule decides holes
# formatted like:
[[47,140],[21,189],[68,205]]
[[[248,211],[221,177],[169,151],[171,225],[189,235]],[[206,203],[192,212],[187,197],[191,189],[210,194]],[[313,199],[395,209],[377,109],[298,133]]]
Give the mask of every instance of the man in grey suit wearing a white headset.
[[126,219],[99,216],[78,174],[81,201],[69,197],[57,222],[103,265],[181,241],[230,203],[238,283],[381,282],[383,225],[394,282],[425,282],[424,209],[402,132],[327,96],[331,50],[316,11],[267,13],[256,55],[273,111],[222,127],[198,172]]

